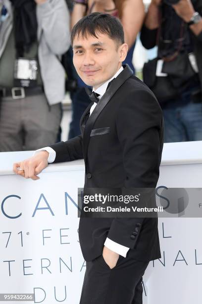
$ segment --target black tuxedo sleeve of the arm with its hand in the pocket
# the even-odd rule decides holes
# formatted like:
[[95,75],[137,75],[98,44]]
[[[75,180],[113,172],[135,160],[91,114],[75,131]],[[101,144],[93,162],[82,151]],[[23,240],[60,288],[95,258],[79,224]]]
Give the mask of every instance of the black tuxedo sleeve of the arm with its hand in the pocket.
[[[149,90],[137,90],[127,96],[116,117],[117,136],[122,147],[127,188],[155,188],[162,152],[162,111]],[[147,191],[147,190],[146,190]],[[128,194],[131,194],[128,193]],[[107,237],[134,248],[145,218],[114,218]],[[131,237],[133,232],[137,235]]]

